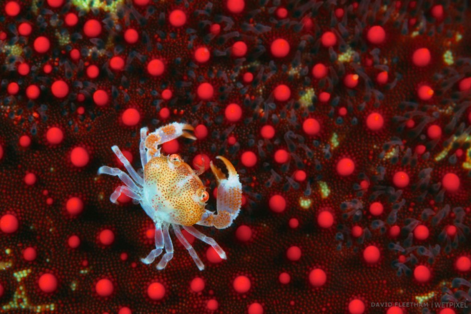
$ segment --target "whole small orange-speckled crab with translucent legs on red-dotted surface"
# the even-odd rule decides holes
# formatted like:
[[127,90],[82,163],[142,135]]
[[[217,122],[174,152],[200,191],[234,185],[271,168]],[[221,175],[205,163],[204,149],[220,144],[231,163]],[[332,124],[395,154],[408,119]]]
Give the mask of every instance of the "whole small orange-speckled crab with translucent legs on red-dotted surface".
[[148,128],[140,130],[140,157],[142,170],[134,170],[118,146],[111,149],[123,163],[129,175],[118,168],[102,166],[98,174],[117,176],[124,185],[116,188],[111,194],[110,201],[117,203],[121,194],[139,203],[155,225],[155,249],[150,251],[147,257],[141,261],[151,264],[164,250],[157,264],[157,269],[164,269],[173,258],[173,244],[169,229],[172,227],[177,239],[188,250],[199,270],[204,269],[204,264],[196,254],[191,244],[181,232],[186,230],[195,238],[209,244],[222,258],[226,259],[224,250],[214,239],[204,235],[193,225],[215,227],[223,229],[229,227],[237,218],[242,205],[242,184],[234,166],[223,156],[216,158],[221,160],[227,168],[228,176],[210,162],[210,168],[217,181],[216,212],[208,211],[205,205],[209,199],[199,175],[204,169],[194,171],[186,164],[180,155],[163,155],[159,145],[180,136],[196,139],[189,131],[194,128],[189,124],[173,122],[162,126],[147,135]]

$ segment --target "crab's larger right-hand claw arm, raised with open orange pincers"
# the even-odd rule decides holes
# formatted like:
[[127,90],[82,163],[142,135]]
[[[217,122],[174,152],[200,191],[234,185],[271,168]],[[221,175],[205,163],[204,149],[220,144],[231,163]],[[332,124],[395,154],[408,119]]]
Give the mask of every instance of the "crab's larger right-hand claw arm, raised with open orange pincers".
[[239,215],[242,205],[242,184],[234,166],[222,156],[216,158],[225,164],[229,177],[226,179],[221,170],[211,162],[211,170],[217,180],[217,214],[206,211],[198,224],[223,229],[230,226]]

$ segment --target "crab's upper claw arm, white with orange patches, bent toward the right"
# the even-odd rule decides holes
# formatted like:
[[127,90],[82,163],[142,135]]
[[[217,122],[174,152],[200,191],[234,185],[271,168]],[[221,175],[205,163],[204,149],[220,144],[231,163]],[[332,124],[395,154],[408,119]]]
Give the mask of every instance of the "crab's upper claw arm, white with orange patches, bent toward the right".
[[196,139],[188,131],[193,131],[194,128],[189,124],[173,122],[164,126],[159,127],[154,132],[147,135],[144,145],[147,148],[147,152],[151,156],[160,155],[158,145],[168,142],[177,137],[183,136],[186,138]]

